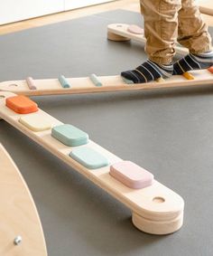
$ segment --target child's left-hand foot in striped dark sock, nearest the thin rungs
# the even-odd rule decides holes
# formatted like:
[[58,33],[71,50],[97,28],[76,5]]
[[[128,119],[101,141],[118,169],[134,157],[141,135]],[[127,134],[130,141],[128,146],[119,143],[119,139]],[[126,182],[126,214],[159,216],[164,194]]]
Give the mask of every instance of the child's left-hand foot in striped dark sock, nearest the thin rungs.
[[147,60],[133,71],[121,72],[121,76],[134,83],[155,81],[159,78],[169,78],[173,73],[173,65],[158,65]]

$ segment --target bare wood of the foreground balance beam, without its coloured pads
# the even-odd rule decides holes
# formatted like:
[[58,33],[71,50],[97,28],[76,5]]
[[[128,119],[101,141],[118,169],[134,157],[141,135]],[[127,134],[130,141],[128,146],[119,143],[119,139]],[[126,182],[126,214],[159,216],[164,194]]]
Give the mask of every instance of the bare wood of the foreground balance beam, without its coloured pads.
[[[90,139],[88,139],[87,147],[106,157],[110,164],[97,169],[90,169],[79,164],[79,161],[71,158],[69,154],[73,150],[85,147],[85,145],[69,147],[62,144],[55,137],[51,137],[51,128],[62,125],[58,119],[54,119],[42,109],[27,115],[17,114],[5,106],[5,100],[13,97],[14,93],[2,91],[0,96],[0,117],[2,119],[23,132],[24,135],[31,137],[32,140],[130,208],[133,212],[133,223],[138,229],[153,234],[167,234],[176,232],[181,228],[184,202],[179,194],[174,193],[156,180],[153,180],[153,185],[143,189],[133,189],[123,185],[112,175],[109,175],[110,165],[121,162],[122,159],[98,146]],[[46,122],[48,121],[51,124],[51,128],[43,131],[32,131],[32,129],[23,125],[23,122],[20,122],[22,117],[33,115],[36,115],[36,119],[40,115],[40,122],[45,119]]]

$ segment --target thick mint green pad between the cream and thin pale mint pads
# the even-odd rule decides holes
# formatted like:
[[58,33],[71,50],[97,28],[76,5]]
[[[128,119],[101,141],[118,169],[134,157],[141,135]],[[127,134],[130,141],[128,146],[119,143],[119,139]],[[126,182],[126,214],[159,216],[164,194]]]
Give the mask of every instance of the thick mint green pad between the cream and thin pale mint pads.
[[51,136],[69,147],[88,143],[88,134],[71,125],[60,125],[51,129]]

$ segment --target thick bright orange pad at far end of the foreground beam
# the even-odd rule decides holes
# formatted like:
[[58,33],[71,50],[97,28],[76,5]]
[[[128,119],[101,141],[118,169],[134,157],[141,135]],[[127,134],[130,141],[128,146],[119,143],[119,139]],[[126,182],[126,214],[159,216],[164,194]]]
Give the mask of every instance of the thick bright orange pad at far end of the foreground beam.
[[7,98],[6,107],[19,114],[29,114],[38,111],[38,105],[23,95]]

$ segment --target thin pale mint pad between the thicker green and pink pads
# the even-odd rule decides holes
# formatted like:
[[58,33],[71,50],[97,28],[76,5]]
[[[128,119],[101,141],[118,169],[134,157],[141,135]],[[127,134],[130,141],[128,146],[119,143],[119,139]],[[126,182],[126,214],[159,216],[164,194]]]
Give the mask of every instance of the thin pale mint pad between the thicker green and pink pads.
[[88,169],[97,169],[109,165],[107,158],[91,147],[73,149],[69,156]]

